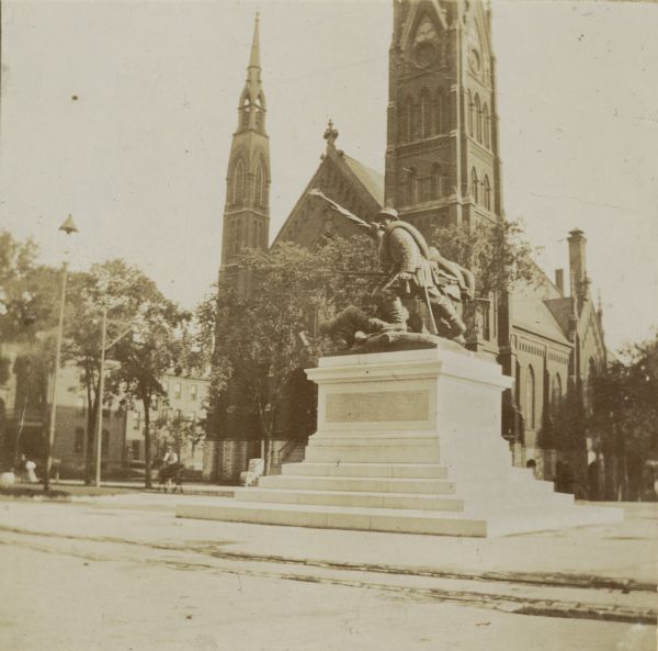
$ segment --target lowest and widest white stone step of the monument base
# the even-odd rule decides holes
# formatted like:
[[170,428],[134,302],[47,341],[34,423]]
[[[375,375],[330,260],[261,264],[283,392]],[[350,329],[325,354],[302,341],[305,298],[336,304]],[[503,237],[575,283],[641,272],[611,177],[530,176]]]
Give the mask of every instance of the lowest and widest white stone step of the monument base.
[[623,520],[621,508],[591,506],[525,507],[513,514],[445,513],[349,506],[257,504],[226,501],[222,504],[177,506],[178,517],[261,525],[394,531],[435,536],[502,536],[561,527],[613,524]]

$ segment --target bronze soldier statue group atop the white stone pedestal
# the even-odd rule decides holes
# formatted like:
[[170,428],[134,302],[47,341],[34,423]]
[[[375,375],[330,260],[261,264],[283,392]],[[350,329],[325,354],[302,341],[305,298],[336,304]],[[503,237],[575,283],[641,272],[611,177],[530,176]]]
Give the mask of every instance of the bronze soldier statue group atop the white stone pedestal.
[[422,234],[398,217],[393,207],[383,209],[372,225],[353,215],[319,190],[311,194],[327,201],[337,212],[367,228],[374,236],[385,279],[373,293],[376,311],[367,315],[351,305],[320,330],[341,350],[370,351],[390,347],[435,346],[435,337],[464,345],[466,326],[462,303],[473,300],[473,273],[443,258]]

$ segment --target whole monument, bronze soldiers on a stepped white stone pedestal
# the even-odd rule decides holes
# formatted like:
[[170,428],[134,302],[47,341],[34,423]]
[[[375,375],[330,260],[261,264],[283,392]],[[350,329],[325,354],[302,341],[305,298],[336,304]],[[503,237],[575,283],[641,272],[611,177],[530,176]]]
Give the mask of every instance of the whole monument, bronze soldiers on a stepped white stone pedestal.
[[477,537],[620,521],[622,509],[577,506],[511,465],[500,418],[512,379],[463,347],[458,303],[473,296],[472,274],[390,209],[366,227],[384,270],[377,312],[351,306],[322,328],[339,353],[306,371],[318,416],[304,461],[177,515]]

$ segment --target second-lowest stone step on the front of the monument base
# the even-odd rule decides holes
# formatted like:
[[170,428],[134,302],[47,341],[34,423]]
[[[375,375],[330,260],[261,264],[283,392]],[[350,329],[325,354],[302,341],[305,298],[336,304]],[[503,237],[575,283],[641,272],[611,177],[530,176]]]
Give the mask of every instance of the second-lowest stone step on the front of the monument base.
[[304,491],[294,489],[238,489],[235,498],[240,502],[270,504],[309,504],[315,506],[361,506],[364,508],[401,508],[412,510],[464,509],[458,497],[420,493],[376,493],[347,491]]

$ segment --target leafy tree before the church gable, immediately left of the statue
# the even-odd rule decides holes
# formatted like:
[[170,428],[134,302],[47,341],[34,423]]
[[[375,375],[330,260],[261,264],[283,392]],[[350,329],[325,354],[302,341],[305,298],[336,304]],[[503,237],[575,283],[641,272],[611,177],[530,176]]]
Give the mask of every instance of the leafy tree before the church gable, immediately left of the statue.
[[248,396],[266,468],[290,378],[326,352],[327,341],[315,336],[320,318],[368,302],[374,252],[365,236],[331,239],[313,251],[291,243],[247,250],[237,272],[197,310],[202,348],[212,350],[213,404],[229,383]]

